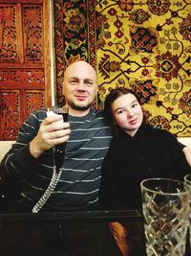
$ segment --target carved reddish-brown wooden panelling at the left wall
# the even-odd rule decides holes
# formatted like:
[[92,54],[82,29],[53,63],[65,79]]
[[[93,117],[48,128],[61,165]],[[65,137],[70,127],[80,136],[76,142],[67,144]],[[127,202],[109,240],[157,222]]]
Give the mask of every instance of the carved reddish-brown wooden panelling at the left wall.
[[51,105],[49,0],[0,1],[0,140]]

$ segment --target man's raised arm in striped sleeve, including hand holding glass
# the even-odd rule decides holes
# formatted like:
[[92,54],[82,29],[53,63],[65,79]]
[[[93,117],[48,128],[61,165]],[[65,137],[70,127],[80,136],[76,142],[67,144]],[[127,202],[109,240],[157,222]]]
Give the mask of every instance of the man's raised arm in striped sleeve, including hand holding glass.
[[45,111],[33,113],[19,128],[18,139],[5,155],[0,166],[1,185],[19,183],[30,170],[35,170],[38,158],[44,151],[69,138],[69,123],[57,122],[59,115],[46,118]]

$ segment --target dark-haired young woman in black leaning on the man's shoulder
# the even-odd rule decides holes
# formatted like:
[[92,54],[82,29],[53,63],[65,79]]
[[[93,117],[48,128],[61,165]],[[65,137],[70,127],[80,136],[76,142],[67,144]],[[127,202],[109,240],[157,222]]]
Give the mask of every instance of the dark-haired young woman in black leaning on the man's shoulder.
[[113,90],[106,97],[104,112],[114,138],[102,166],[99,202],[103,207],[139,209],[142,179],[182,179],[191,173],[177,138],[145,121],[133,91]]

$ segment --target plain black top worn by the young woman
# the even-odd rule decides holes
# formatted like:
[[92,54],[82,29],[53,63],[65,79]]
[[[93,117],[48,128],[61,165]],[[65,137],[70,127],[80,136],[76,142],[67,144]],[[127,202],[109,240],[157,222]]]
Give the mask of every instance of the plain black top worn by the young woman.
[[149,125],[138,128],[134,137],[120,131],[103,162],[99,202],[109,209],[139,209],[141,180],[182,180],[189,173],[180,144],[170,132]]

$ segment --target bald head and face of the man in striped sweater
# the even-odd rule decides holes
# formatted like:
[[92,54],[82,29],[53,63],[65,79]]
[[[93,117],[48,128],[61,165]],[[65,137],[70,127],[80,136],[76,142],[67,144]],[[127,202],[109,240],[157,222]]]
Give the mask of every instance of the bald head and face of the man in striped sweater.
[[96,97],[96,89],[96,71],[90,64],[80,60],[66,69],[63,93],[69,108],[89,111]]

